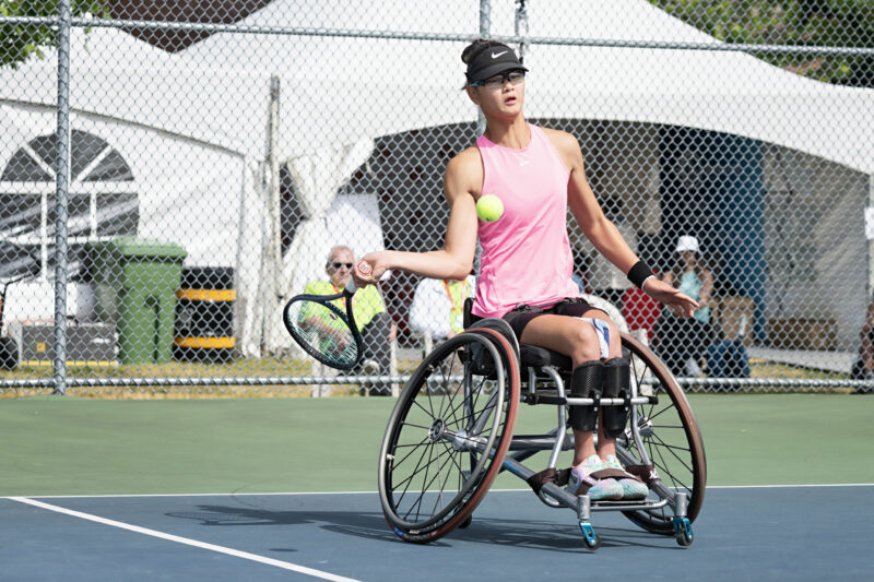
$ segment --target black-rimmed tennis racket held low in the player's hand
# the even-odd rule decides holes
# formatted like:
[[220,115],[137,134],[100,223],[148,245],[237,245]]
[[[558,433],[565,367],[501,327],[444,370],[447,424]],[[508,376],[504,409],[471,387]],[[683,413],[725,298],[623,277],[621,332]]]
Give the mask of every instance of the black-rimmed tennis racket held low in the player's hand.
[[[370,265],[364,261],[357,269],[363,275],[370,273]],[[362,335],[352,314],[352,296],[356,290],[355,280],[350,278],[336,295],[297,295],[282,311],[285,329],[294,341],[307,354],[338,370],[351,370],[364,354]]]

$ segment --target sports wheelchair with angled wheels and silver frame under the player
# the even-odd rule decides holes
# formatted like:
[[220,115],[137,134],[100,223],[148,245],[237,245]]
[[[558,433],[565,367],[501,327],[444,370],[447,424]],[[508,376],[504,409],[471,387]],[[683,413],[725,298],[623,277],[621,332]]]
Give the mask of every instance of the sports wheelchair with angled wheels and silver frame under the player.
[[[545,504],[575,511],[588,549],[601,546],[590,522],[597,511],[621,511],[643,530],[690,545],[707,480],[695,416],[646,345],[622,334],[622,346],[630,387],[606,399],[566,394],[570,358],[519,345],[503,319],[465,325],[437,345],[404,385],[379,453],[379,496],[392,531],[405,542],[425,544],[466,527],[495,477],[508,471]],[[556,426],[543,435],[513,435],[520,403],[555,406]],[[557,463],[562,451],[574,448],[568,417],[576,405],[629,409],[616,455],[647,484],[646,499],[592,501],[565,490],[569,470],[558,470]],[[545,470],[522,464],[541,451],[550,452]]]

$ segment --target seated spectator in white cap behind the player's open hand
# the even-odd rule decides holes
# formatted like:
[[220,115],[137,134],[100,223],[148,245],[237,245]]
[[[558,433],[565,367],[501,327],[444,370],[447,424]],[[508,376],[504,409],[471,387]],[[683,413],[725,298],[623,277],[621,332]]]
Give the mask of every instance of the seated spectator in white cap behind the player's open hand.
[[713,293],[713,273],[700,257],[698,239],[682,236],[676,246],[674,268],[665,270],[663,281],[677,287],[700,306],[693,318],[678,318],[662,310],[656,323],[653,348],[675,376],[700,376],[704,352],[713,343],[708,306]]

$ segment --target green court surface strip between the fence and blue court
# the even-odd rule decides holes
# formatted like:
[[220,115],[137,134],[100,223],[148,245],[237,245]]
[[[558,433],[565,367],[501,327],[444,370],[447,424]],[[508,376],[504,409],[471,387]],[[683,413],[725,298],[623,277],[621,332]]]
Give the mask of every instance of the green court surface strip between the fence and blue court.
[[[874,441],[874,395],[689,401],[704,435],[708,486],[874,483],[874,465],[863,461]],[[0,400],[0,496],[373,491],[393,404]],[[517,431],[541,431],[554,418],[552,407],[522,405]],[[501,475],[493,487],[525,485]]]

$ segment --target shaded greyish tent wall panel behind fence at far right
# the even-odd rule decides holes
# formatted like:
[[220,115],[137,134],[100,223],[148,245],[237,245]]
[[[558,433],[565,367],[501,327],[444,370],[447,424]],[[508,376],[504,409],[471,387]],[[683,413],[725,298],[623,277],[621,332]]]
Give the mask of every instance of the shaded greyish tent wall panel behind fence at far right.
[[765,149],[766,316],[834,319],[853,349],[867,293],[867,176],[816,156]]

